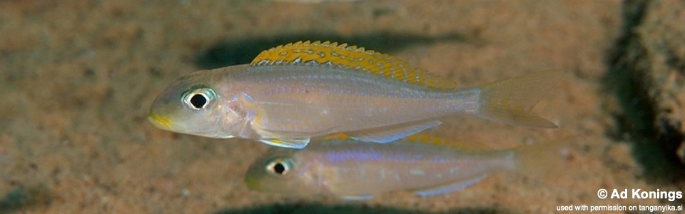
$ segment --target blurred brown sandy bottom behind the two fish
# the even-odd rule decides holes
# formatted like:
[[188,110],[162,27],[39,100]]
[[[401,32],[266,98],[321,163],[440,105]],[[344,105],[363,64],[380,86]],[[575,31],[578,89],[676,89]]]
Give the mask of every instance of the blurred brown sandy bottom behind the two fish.
[[[651,146],[678,138],[631,133],[651,126],[641,124],[640,106],[626,108],[639,97],[617,95],[623,93],[617,88],[631,86],[617,83],[623,73],[614,64],[644,56],[620,51],[621,41],[634,38],[626,27],[639,28],[627,19],[630,12],[685,8],[679,1],[644,2],[0,1],[0,213],[554,213],[571,204],[682,205],[682,199],[597,197],[602,188],[685,187],[683,162],[675,155],[682,151]],[[664,18],[666,26],[679,28],[682,14]],[[664,44],[678,56],[668,63],[675,74],[668,75],[681,88],[682,36],[662,39],[674,41]],[[243,184],[248,165],[268,146],[171,133],[148,123],[149,106],[176,78],[248,63],[263,49],[303,39],[392,54],[460,86],[567,70],[557,90],[533,109],[559,128],[463,116],[430,129],[492,148],[569,141],[567,165],[542,177],[494,173],[432,198],[410,192],[355,203],[290,198]],[[683,97],[679,90],[674,97]],[[668,118],[679,124],[684,102],[666,105],[675,106]],[[672,136],[683,133],[681,127]],[[661,156],[667,158],[652,158]]]

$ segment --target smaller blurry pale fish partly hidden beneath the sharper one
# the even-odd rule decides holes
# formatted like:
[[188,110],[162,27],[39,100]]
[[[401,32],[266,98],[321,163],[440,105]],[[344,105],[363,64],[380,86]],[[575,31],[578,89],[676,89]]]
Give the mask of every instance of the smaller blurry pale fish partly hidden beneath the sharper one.
[[297,197],[367,200],[395,190],[425,197],[467,188],[497,170],[546,175],[562,167],[568,155],[565,143],[503,151],[477,148],[476,143],[453,145],[430,137],[386,145],[342,139],[315,142],[303,150],[270,148],[250,165],[245,184]]

